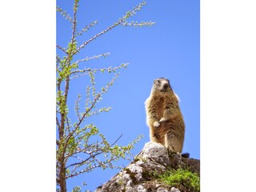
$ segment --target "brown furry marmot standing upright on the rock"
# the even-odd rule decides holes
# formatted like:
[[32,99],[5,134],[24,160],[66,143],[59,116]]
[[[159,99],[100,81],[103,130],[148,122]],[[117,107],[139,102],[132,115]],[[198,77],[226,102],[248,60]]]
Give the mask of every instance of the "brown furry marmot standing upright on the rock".
[[171,152],[181,154],[185,123],[178,102],[178,95],[167,78],[154,79],[150,97],[145,102],[150,141],[162,143]]

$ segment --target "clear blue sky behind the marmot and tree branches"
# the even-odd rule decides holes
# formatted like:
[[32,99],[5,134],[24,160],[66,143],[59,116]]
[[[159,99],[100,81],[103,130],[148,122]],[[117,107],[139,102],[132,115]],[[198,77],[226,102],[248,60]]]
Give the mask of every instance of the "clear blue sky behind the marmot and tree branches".
[[[80,29],[91,21],[98,25],[78,38],[78,44],[85,42],[94,34],[121,18],[141,1],[94,0],[81,1],[78,7],[78,26]],[[73,1],[58,1],[57,5],[72,15]],[[144,102],[150,95],[154,78],[165,77],[178,94],[182,114],[186,123],[186,136],[183,152],[191,158],[200,158],[200,7],[199,0],[148,1],[130,21],[153,21],[150,27],[118,26],[90,42],[79,58],[108,53],[84,65],[91,68],[118,66],[129,62],[110,91],[103,96],[100,106],[111,106],[107,114],[100,114],[90,120],[94,122],[110,142],[120,134],[119,144],[126,145],[138,134],[144,138],[136,144],[133,153],[138,154],[144,144],[150,141],[149,128],[146,126]],[[70,41],[70,23],[57,14],[57,44],[66,46]],[[111,75],[99,74],[96,77],[98,87],[110,80]],[[84,94],[86,78],[70,85],[70,110],[73,109],[77,94]],[[70,113],[73,113],[70,111]],[[127,165],[120,161],[118,165]],[[72,186],[87,183],[86,189],[95,190],[101,183],[108,181],[118,170],[95,170],[68,181],[68,190]]]

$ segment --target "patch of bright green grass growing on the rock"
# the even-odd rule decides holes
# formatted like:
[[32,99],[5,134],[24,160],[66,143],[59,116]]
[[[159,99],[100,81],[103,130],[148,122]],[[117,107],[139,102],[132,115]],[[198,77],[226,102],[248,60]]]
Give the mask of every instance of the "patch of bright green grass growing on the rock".
[[177,187],[180,190],[200,191],[199,175],[192,173],[188,169],[167,170],[164,174],[158,174],[157,178],[167,185]]

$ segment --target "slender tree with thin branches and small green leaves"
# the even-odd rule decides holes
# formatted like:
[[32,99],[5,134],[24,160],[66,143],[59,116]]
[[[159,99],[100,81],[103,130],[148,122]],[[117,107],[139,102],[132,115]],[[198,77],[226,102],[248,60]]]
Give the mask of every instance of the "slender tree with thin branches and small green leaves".
[[[57,45],[56,55],[56,124],[57,124],[57,139],[56,139],[56,182],[57,190],[66,191],[66,179],[77,177],[80,174],[89,173],[97,167],[103,170],[106,168],[116,168],[114,162],[118,159],[129,159],[132,154],[130,150],[134,148],[134,144],[140,140],[142,136],[138,136],[134,141],[127,146],[119,146],[117,144],[119,138],[113,143],[106,140],[104,134],[101,134],[98,127],[93,123],[88,123],[86,120],[95,114],[108,112],[110,107],[96,108],[96,104],[102,101],[102,95],[105,94],[114,81],[118,78],[118,70],[126,68],[128,64],[123,63],[120,66],[90,69],[80,65],[83,62],[89,62],[95,58],[105,58],[109,53],[94,55],[92,57],[74,59],[79,57],[79,53],[90,42],[93,42],[102,34],[106,34],[117,26],[151,26],[154,22],[128,22],[127,19],[136,14],[138,10],[145,6],[146,2],[139,3],[133,10],[128,11],[122,18],[119,18],[113,25],[102,30],[92,38],[78,45],[77,38],[91,27],[98,24],[98,21],[91,22],[88,26],[78,30],[78,6],[79,0],[74,0],[73,16],[71,17],[65,10],[57,6],[57,11],[62,14],[68,22],[71,23],[72,34],[70,42],[66,47]],[[83,65],[84,66],[84,65]],[[95,86],[95,74],[99,72],[109,72],[114,74],[110,82],[106,82],[101,90]],[[70,106],[67,105],[68,96],[70,94],[70,82],[75,81],[82,76],[90,77],[89,82],[85,82],[86,91],[83,94],[78,94],[78,98],[74,104],[74,111],[77,119],[70,118]],[[82,90],[82,88],[81,88]],[[84,110],[81,110],[82,98],[85,98]],[[96,142],[91,142],[90,138],[97,137]],[[95,140],[95,139],[94,139]],[[80,191],[81,187],[75,186],[74,191]]]

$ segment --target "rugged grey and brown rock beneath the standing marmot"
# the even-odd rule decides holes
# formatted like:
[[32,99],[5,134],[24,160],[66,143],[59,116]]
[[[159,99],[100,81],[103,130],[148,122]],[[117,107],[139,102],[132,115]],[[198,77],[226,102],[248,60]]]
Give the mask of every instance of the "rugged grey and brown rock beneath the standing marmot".
[[190,168],[192,172],[200,175],[199,160],[183,158],[180,154],[169,154],[162,144],[147,142],[133,162],[109,182],[98,186],[96,192],[182,192],[155,179],[156,174],[162,174],[170,168]]

